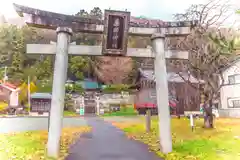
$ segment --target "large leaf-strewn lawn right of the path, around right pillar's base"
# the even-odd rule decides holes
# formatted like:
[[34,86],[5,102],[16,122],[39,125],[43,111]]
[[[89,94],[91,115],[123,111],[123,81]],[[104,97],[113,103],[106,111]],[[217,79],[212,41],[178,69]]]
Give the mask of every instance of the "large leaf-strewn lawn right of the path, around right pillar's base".
[[152,131],[145,133],[145,124],[113,123],[123,129],[129,138],[148,144],[151,151],[165,160],[239,160],[240,159],[240,119],[216,119],[215,129],[202,128],[203,120],[195,120],[194,132],[189,120],[172,119],[173,152],[160,152],[158,120],[152,118]]

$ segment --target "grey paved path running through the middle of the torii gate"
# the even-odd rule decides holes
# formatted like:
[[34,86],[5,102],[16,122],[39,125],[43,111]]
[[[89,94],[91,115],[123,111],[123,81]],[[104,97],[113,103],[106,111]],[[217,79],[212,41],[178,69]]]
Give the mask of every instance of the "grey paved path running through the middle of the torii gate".
[[81,136],[65,160],[162,160],[110,123],[98,117],[89,117],[87,122],[92,132]]

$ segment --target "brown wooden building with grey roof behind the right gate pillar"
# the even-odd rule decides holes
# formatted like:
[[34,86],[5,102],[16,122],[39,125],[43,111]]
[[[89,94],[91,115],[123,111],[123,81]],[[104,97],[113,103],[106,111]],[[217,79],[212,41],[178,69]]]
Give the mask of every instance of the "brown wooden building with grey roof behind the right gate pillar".
[[[182,74],[186,79],[189,78],[191,83],[198,85],[199,81],[192,75]],[[189,86],[184,80],[176,73],[169,72],[167,75],[168,88],[169,88],[169,106],[174,106],[176,102],[177,115],[184,114],[184,111],[199,111],[200,107],[200,94]],[[156,107],[156,89],[155,89],[155,76],[153,70],[138,70],[137,78],[138,92],[135,98],[135,108],[141,113],[145,114],[144,108],[150,108],[152,114],[157,113]]]

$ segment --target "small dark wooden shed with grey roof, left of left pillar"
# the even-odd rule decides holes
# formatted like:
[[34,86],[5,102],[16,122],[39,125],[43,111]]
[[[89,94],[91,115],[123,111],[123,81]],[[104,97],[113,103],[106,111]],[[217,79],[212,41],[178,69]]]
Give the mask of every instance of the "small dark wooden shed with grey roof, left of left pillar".
[[49,114],[52,99],[50,93],[33,93],[30,98],[30,115],[47,116]]

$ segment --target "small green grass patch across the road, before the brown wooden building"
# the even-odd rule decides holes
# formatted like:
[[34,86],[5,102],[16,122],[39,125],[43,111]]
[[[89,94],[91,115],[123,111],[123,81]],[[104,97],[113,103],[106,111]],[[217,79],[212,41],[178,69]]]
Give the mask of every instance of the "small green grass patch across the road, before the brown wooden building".
[[128,105],[126,109],[120,108],[120,111],[112,113],[104,113],[103,116],[136,116],[137,112],[132,105]]

